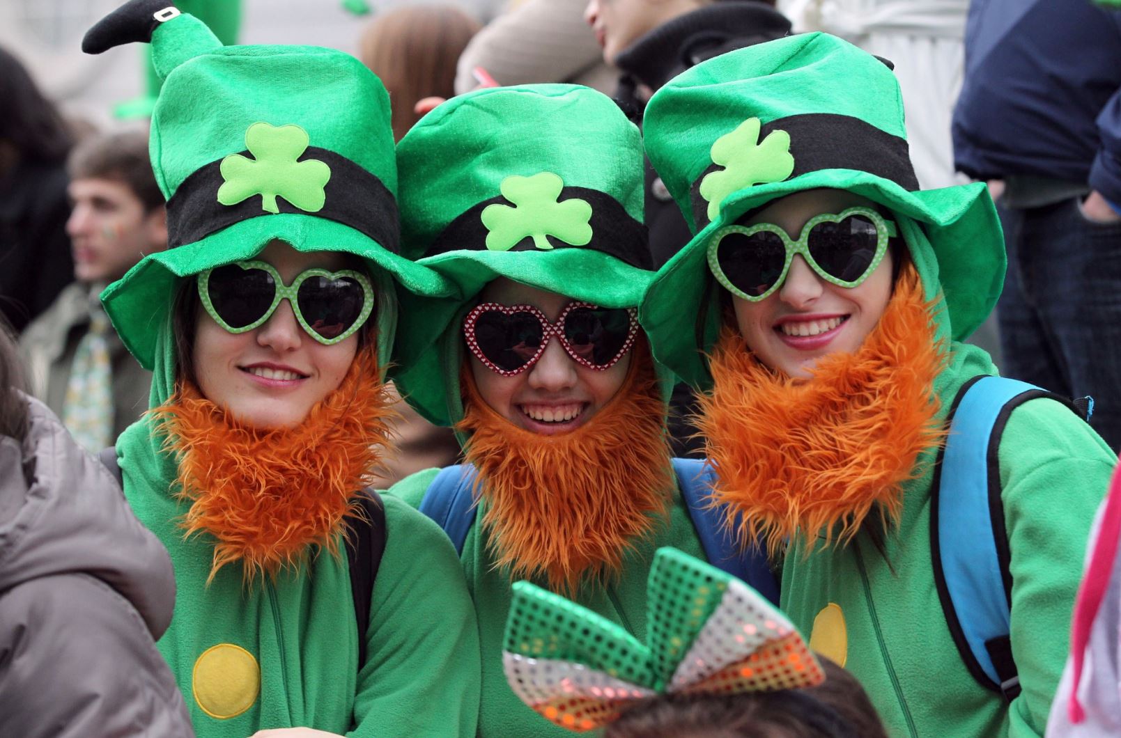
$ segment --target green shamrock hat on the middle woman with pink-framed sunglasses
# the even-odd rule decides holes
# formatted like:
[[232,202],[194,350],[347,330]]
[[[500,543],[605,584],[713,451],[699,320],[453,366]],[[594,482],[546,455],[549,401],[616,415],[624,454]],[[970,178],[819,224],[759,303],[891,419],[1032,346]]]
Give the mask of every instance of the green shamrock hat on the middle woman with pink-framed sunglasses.
[[462,417],[463,315],[498,277],[605,308],[637,307],[651,269],[638,128],[567,84],[476,90],[397,144],[406,253],[458,300],[402,296],[393,379],[427,419]]

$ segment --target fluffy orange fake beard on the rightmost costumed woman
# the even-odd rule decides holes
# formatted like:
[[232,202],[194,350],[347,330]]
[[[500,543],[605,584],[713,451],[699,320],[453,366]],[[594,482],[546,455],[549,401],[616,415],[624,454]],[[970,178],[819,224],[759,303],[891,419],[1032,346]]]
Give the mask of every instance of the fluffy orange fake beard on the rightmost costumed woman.
[[808,553],[818,539],[846,543],[873,510],[898,522],[904,483],[945,436],[933,309],[908,264],[860,351],[822,358],[808,380],[763,366],[724,328],[697,427],[720,479],[713,502],[738,515],[729,524],[741,542],[776,555],[800,531]]

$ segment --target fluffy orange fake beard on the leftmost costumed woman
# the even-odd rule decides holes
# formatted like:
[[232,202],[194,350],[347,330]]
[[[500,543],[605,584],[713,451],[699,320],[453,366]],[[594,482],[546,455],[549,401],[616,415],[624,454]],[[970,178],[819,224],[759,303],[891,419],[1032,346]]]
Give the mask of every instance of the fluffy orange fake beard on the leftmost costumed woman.
[[180,381],[152,413],[178,460],[178,495],[191,502],[186,536],[215,539],[211,581],[241,561],[247,581],[297,564],[317,544],[339,554],[354,496],[370,485],[392,417],[374,348],[296,428],[257,429]]

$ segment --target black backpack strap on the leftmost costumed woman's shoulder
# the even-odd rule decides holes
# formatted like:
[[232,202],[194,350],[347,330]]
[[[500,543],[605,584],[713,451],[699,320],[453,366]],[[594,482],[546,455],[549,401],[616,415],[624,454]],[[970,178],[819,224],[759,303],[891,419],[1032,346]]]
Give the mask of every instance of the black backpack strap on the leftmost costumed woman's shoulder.
[[355,498],[358,510],[344,519],[346,526],[346,564],[350,569],[351,595],[354,599],[354,624],[358,627],[358,667],[365,665],[365,630],[370,625],[370,598],[378,578],[381,557],[386,552],[386,507],[373,489],[363,489]]

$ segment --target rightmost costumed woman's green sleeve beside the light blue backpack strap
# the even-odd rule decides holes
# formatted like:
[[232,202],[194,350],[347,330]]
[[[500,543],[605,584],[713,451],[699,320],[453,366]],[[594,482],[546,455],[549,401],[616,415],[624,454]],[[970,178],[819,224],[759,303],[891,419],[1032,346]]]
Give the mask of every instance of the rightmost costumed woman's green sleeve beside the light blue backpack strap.
[[1022,692],[1010,738],[1043,736],[1069,645],[1071,613],[1094,511],[1117,456],[1054,400],[1031,400],[1001,436],[1001,498],[1012,573],[1012,655]]

